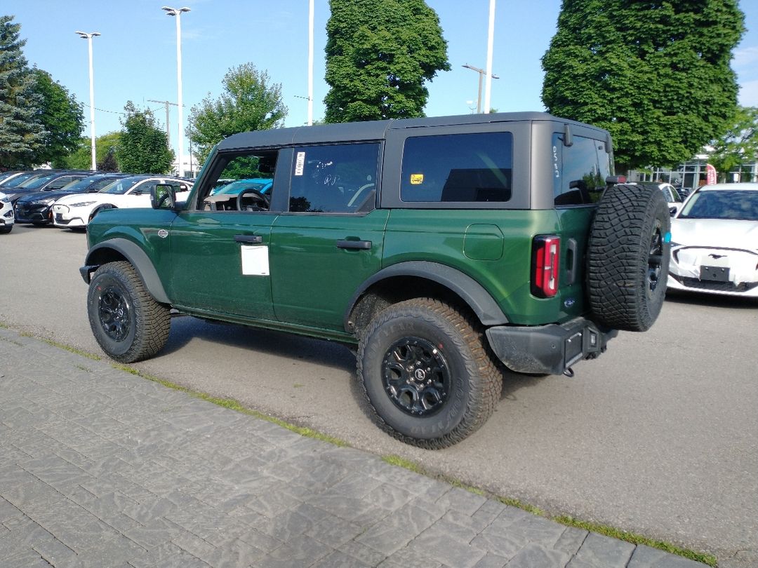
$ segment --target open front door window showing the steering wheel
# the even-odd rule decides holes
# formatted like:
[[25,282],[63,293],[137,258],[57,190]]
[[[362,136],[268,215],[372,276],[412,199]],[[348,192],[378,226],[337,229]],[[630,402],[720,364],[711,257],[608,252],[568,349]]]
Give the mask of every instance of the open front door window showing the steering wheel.
[[198,208],[205,211],[268,211],[276,150],[230,154],[218,176],[205,186]]

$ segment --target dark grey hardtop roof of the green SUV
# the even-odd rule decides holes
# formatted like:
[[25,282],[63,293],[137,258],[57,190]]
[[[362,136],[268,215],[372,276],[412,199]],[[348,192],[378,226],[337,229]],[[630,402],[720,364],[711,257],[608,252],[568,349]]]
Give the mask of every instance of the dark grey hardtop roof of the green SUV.
[[[493,114],[459,114],[449,117],[405,118],[393,120],[368,120],[365,122],[318,124],[315,126],[293,126],[271,130],[253,130],[233,134],[218,143],[218,150],[236,150],[261,146],[283,146],[290,144],[314,144],[319,142],[341,142],[356,140],[381,140],[387,130],[422,128],[429,126],[456,126],[467,124],[487,124],[498,122],[526,122],[550,120],[581,126],[575,120],[554,117],[545,112],[502,112]],[[589,126],[594,128],[594,126]],[[596,130],[605,132],[600,128]]]

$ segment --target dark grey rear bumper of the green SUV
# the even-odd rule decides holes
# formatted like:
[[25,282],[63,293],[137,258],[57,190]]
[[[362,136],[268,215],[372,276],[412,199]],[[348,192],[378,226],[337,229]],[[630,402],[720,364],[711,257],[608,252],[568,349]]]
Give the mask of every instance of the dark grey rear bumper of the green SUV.
[[579,360],[598,357],[618,334],[618,329],[600,328],[584,317],[547,326],[487,329],[490,347],[506,367],[551,375],[564,373]]

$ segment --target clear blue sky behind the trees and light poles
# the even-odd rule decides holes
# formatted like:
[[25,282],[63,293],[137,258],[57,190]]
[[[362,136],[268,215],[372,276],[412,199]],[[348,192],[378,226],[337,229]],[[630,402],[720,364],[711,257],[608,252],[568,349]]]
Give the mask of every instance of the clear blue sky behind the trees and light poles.
[[[428,0],[440,16],[452,70],[429,85],[428,116],[465,114],[475,108],[478,73],[487,58],[489,0]],[[30,65],[49,72],[76,95],[84,108],[89,136],[89,63],[86,40],[74,32],[99,32],[92,40],[95,123],[100,136],[120,130],[127,101],[155,111],[165,123],[165,105],[177,101],[176,23],[157,0],[3,0],[0,14],[14,15],[27,39]],[[184,122],[189,109],[208,93],[221,94],[221,79],[231,67],[252,62],[281,83],[290,112],[287,126],[307,120],[308,0],[184,0],[169,4],[191,8],[183,14],[182,80]],[[540,58],[555,33],[560,0],[514,2],[496,7],[492,106],[499,111],[541,111]],[[758,106],[758,2],[739,0],[747,33],[735,51],[742,105]],[[327,0],[315,0],[314,116],[324,116],[324,44]],[[472,101],[472,102],[469,102]],[[171,108],[171,142],[176,147],[177,114]],[[185,142],[185,148],[186,148]]]

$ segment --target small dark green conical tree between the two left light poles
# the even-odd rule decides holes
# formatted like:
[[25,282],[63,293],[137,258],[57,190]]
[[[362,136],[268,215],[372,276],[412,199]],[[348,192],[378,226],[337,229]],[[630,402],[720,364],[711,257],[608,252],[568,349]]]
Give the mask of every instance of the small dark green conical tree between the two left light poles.
[[140,111],[132,101],[127,101],[124,111],[124,130],[116,148],[121,169],[132,173],[170,172],[174,151],[168,147],[168,135],[158,127],[152,111]]

